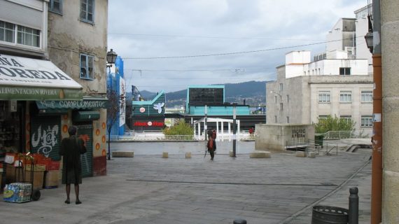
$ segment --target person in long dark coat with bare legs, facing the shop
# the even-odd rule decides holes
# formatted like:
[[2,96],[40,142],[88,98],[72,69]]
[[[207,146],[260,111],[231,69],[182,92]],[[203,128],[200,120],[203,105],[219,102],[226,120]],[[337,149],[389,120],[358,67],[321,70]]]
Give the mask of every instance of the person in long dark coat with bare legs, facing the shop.
[[75,126],[68,129],[69,137],[61,141],[59,155],[62,155],[62,183],[65,184],[66,200],[65,203],[71,203],[69,193],[71,192],[71,183],[75,186],[76,202],[82,204],[79,200],[79,184],[82,183],[82,167],[80,165],[80,154],[86,153],[84,141],[76,137]]

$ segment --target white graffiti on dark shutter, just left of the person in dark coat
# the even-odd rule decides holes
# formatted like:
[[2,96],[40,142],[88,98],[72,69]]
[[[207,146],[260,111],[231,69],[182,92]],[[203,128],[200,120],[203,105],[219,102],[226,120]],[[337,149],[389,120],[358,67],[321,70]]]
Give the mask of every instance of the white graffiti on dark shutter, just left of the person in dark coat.
[[45,157],[50,155],[52,147],[57,144],[58,125],[50,127],[47,130],[41,129],[41,125],[35,130],[31,136],[31,144],[33,147],[38,147],[38,153],[42,153]]

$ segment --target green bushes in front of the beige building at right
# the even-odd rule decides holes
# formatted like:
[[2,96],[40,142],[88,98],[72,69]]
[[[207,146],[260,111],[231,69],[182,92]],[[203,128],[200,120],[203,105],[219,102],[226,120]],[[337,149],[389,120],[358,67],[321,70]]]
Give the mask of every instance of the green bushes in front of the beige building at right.
[[325,133],[329,131],[354,131],[355,124],[351,119],[337,118],[335,116],[332,118],[328,116],[327,118],[318,118],[318,123],[314,124],[316,133]]

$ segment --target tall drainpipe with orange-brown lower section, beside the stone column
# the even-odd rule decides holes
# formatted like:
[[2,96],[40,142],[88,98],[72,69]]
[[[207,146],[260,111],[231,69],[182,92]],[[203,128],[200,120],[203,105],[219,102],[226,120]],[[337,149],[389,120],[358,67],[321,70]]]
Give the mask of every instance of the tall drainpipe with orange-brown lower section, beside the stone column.
[[372,179],[371,179],[371,223],[381,223],[382,205],[382,69],[381,69],[381,13],[380,0],[372,1],[373,50],[372,67],[374,90],[373,136],[372,136]]

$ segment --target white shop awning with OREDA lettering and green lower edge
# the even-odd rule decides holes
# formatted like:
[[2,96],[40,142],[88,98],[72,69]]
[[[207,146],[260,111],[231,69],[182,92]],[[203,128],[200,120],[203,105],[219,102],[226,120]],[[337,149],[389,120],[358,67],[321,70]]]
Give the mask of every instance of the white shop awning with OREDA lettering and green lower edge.
[[0,55],[0,100],[82,99],[82,86],[52,62]]

